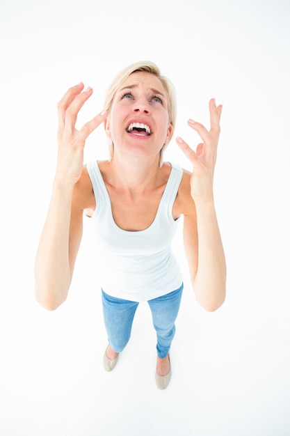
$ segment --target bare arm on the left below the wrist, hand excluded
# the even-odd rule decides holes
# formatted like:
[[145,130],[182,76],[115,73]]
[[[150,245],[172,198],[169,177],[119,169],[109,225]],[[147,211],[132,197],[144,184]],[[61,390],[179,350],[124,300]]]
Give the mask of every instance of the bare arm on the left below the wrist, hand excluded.
[[55,181],[35,258],[35,297],[54,310],[66,299],[82,235],[82,210],[72,208],[74,187]]

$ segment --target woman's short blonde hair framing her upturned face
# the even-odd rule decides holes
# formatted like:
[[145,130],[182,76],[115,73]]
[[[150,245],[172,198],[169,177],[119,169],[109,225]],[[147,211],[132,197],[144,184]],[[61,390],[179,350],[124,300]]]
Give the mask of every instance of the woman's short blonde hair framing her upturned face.
[[[113,79],[111,85],[108,87],[108,90],[106,92],[105,102],[104,102],[104,108],[107,111],[110,111],[113,104],[113,100],[115,98],[115,93],[118,91],[118,88],[120,88],[123,81],[126,80],[127,77],[129,77],[129,75],[137,71],[150,72],[152,75],[155,75],[161,81],[161,84],[163,84],[163,88],[166,91],[166,97],[168,98],[168,121],[169,124],[172,125],[172,134],[173,134],[173,131],[175,129],[175,123],[176,123],[176,114],[177,114],[175,88],[173,87],[172,83],[167,77],[162,76],[160,74],[159,68],[153,62],[139,61],[139,62],[132,63],[131,65],[128,65],[126,68],[121,70],[119,74],[115,77],[115,79]],[[164,144],[160,150],[159,166],[162,165],[163,153],[167,145],[168,143]],[[109,141],[108,149],[109,149],[110,159],[112,159],[114,146],[113,146],[113,141],[111,140]]]

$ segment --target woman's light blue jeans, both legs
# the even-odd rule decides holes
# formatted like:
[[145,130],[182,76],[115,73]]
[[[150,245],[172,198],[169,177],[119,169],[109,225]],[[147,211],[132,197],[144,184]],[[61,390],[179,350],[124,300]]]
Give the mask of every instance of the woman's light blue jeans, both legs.
[[[166,357],[175,336],[175,320],[179,311],[184,286],[162,297],[150,299],[148,304],[152,313],[157,335],[157,355]],[[138,302],[111,297],[102,290],[103,313],[108,343],[112,350],[121,352],[131,336],[131,327]]]

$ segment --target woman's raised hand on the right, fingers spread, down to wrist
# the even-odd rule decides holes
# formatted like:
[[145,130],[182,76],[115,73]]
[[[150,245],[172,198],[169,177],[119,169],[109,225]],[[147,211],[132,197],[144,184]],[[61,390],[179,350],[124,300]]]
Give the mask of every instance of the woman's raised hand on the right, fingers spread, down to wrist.
[[193,164],[191,176],[191,196],[195,203],[198,201],[213,199],[214,191],[214,167],[216,164],[216,153],[218,148],[218,137],[220,136],[220,115],[222,105],[216,106],[214,98],[209,101],[209,114],[211,128],[207,130],[204,125],[188,120],[188,125],[198,132],[202,139],[196,151],[180,137],[177,144],[186,157]]

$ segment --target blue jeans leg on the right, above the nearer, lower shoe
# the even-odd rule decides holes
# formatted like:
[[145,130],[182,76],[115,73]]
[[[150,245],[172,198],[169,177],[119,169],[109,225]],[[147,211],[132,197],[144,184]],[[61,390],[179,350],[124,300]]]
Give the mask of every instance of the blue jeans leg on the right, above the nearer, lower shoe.
[[157,334],[157,355],[166,357],[175,336],[175,320],[179,312],[184,285],[172,293],[150,299],[148,304],[152,312],[154,329]]

